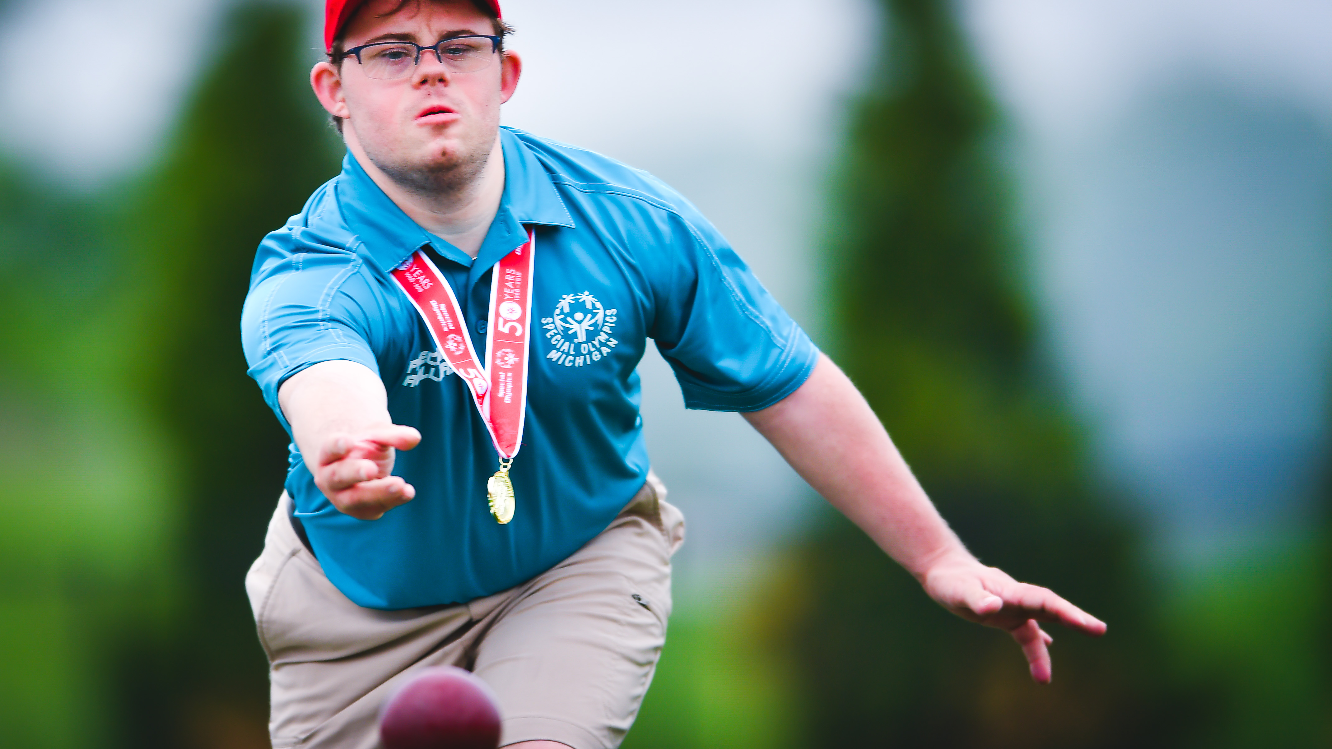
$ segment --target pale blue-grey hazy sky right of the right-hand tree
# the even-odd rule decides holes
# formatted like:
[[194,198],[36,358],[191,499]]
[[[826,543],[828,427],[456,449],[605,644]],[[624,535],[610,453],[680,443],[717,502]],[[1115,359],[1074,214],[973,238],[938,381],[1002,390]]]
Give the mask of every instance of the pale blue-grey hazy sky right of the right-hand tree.
[[1111,472],[1185,557],[1297,531],[1332,384],[1332,3],[966,8]]

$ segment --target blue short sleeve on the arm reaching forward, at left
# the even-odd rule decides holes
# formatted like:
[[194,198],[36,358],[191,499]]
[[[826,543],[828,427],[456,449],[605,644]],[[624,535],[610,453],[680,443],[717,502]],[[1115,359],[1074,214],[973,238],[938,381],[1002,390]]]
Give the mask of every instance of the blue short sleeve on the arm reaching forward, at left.
[[289,434],[277,403],[289,376],[329,361],[380,371],[370,346],[373,315],[357,302],[373,298],[364,289],[364,269],[352,253],[293,253],[266,263],[245,298],[241,343],[249,375]]

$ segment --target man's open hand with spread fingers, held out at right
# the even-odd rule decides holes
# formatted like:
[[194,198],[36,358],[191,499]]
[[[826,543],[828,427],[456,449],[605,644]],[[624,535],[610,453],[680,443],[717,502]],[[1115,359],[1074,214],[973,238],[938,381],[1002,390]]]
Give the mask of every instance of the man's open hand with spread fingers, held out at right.
[[1058,621],[1092,637],[1106,633],[1104,621],[1052,591],[1019,583],[966,552],[939,559],[919,577],[930,597],[943,608],[1012,635],[1027,656],[1031,678],[1040,684],[1050,684],[1050,644],[1055,640],[1038,623]]

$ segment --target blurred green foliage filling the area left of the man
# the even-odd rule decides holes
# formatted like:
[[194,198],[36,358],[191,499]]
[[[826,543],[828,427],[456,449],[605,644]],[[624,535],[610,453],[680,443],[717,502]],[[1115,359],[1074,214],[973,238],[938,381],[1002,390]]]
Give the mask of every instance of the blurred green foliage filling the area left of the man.
[[[254,246],[337,170],[292,7],[238,5],[160,161],[67,200],[0,181],[0,744],[260,746],[241,581],[286,438],[245,376]],[[31,478],[31,479],[28,479]],[[31,486],[24,482],[31,480]]]

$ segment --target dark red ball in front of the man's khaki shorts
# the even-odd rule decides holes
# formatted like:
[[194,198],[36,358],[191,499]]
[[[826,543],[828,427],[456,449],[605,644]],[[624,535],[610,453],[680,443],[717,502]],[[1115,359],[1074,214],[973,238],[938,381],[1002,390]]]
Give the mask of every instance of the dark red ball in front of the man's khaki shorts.
[[496,749],[500,709],[474,674],[424,668],[380,708],[380,740],[385,749]]

